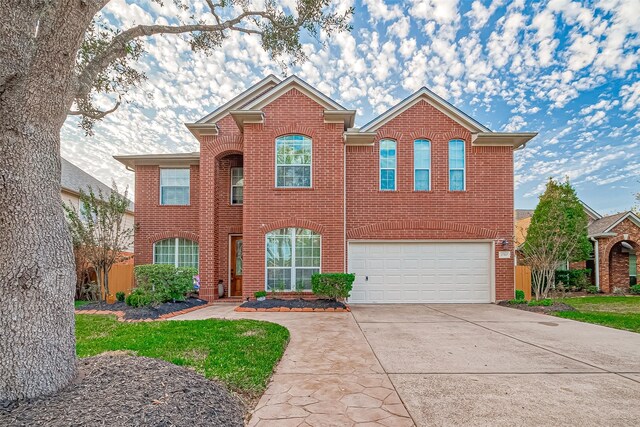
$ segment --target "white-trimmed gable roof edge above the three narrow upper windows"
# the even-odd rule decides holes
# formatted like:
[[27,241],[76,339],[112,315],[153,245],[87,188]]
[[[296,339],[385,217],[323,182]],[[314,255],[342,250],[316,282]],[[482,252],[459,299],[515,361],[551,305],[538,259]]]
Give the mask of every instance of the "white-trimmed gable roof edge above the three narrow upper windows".
[[482,125],[480,122],[473,119],[471,116],[464,113],[462,110],[456,108],[449,102],[445,101],[443,98],[430,91],[426,87],[420,88],[414,94],[408,96],[407,98],[400,101],[395,106],[391,107],[375,119],[371,120],[366,125],[362,126],[360,130],[362,132],[372,132],[380,128],[385,123],[389,122],[394,117],[400,115],[403,111],[408,110],[413,107],[420,101],[425,101],[435,107],[437,110],[442,112],[443,114],[450,117],[455,122],[459,123],[461,126],[465,127],[472,133],[479,132],[491,132],[489,128]]

